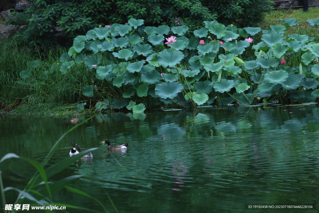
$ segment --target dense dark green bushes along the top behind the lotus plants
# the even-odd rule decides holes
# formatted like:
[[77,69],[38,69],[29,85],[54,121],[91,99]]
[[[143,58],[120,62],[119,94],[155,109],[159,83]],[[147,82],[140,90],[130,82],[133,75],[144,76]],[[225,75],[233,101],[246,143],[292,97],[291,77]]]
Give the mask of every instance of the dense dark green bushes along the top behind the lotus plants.
[[[29,0],[23,13],[13,12],[10,21],[20,26],[16,36],[20,42],[45,48],[99,25],[124,24],[130,18],[144,19],[145,26],[187,25],[191,30],[202,21],[217,19],[237,26],[255,25],[269,11],[270,0]],[[258,6],[256,6],[258,5]],[[59,32],[58,29],[63,29]],[[58,36],[57,36],[58,35]]]

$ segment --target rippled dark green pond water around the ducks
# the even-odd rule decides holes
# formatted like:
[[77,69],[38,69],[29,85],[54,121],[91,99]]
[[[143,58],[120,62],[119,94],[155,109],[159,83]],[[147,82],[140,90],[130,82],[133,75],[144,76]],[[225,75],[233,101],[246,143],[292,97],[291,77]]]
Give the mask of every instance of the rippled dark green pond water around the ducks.
[[[49,164],[98,147],[58,175],[82,175],[70,186],[99,199],[109,212],[318,212],[315,209],[246,210],[245,204],[316,204],[319,199],[316,105],[215,107],[145,114],[100,113],[67,134]],[[89,115],[79,115],[80,120]],[[0,116],[0,157],[13,152],[41,162],[74,124],[58,116]],[[108,151],[129,143],[125,151]],[[20,159],[0,164],[4,185],[23,189],[34,169]],[[17,194],[9,191],[7,203]],[[102,211],[66,189],[54,196]],[[69,212],[85,212],[67,208]],[[40,211],[39,211],[40,212]]]

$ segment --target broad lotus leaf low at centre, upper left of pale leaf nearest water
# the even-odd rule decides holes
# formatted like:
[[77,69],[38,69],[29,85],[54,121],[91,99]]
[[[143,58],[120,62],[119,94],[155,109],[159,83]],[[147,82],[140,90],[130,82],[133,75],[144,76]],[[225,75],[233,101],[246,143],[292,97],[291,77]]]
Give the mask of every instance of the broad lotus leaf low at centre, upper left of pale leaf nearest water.
[[182,92],[183,85],[180,82],[162,82],[155,87],[155,94],[161,98],[173,99]]

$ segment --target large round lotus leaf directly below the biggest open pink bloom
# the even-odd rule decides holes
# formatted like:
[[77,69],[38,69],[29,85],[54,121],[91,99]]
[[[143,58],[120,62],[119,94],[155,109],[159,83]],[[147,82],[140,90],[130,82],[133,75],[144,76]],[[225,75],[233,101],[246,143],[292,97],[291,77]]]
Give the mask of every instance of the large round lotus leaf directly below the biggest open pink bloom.
[[170,51],[168,49],[164,49],[158,53],[157,62],[164,68],[167,66],[173,67],[176,64],[181,63],[183,58],[184,54],[181,51]]

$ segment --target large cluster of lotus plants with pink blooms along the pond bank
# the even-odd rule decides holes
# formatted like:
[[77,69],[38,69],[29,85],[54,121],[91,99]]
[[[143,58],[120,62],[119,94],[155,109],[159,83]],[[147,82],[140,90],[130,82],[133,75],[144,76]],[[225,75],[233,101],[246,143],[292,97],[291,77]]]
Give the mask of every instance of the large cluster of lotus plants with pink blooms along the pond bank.
[[[270,30],[204,21],[191,35],[186,25],[145,27],[144,20],[129,19],[125,25],[100,26],[77,36],[60,58],[60,72],[85,64],[95,73],[82,92],[102,98],[97,110],[126,107],[142,112],[150,102],[196,107],[313,101],[319,94],[319,44],[307,35],[285,35],[298,21],[282,20],[284,25],[271,25]],[[308,21],[319,25],[319,18]],[[262,41],[253,45],[258,33]],[[255,57],[244,61],[250,45]],[[110,90],[120,95],[112,96]]]

